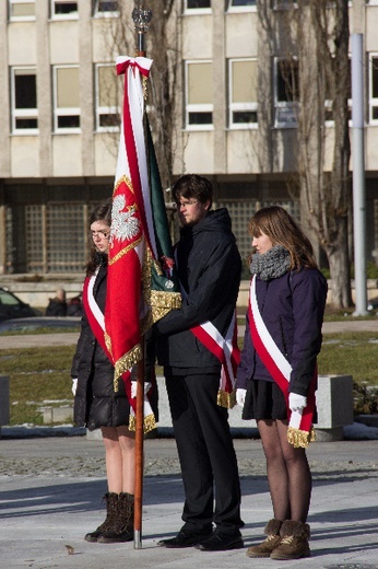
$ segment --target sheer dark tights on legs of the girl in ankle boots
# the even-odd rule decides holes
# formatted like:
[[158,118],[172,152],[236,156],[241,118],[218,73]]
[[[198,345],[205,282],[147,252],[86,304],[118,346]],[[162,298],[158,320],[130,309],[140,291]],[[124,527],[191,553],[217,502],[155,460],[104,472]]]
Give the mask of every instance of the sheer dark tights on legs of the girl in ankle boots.
[[305,449],[295,449],[287,442],[287,421],[260,419],[258,428],[274,518],[306,522],[312,481]]

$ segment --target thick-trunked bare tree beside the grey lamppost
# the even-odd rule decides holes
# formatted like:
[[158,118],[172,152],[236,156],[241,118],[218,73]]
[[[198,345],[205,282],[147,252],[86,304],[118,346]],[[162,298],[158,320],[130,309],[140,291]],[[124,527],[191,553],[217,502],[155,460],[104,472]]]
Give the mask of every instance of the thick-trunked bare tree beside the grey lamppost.
[[[286,10],[267,9],[259,18],[273,35],[269,49],[283,58],[286,89],[297,113],[296,175],[290,191],[312,241],[326,252],[334,307],[352,305],[349,256],[350,60],[345,0],[282,2]],[[259,54],[260,59],[260,54]],[[330,126],[328,126],[330,125]]]

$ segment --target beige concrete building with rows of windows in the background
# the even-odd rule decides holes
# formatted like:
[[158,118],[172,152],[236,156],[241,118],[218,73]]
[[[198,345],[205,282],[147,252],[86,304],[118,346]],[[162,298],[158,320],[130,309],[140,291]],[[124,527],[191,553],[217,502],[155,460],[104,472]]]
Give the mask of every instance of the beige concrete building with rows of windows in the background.
[[[250,248],[248,220],[257,208],[280,204],[299,216],[286,189],[295,167],[295,106],[282,85],[277,48],[268,62],[264,125],[274,160],[260,159],[263,47],[256,3],[176,0],[173,12],[180,71],[173,174],[196,172],[214,182],[216,206],[229,209],[244,257]],[[152,4],[144,1],[145,8]],[[267,0],[267,7],[280,11],[295,3]],[[133,8],[132,0],[0,2],[0,274],[82,272],[88,211],[111,196],[116,166],[114,62],[126,54],[110,40],[113,24],[120,9],[131,22]],[[373,260],[378,251],[378,1],[350,2],[350,22],[351,32],[365,39],[367,255]],[[127,33],[132,37],[132,22]]]

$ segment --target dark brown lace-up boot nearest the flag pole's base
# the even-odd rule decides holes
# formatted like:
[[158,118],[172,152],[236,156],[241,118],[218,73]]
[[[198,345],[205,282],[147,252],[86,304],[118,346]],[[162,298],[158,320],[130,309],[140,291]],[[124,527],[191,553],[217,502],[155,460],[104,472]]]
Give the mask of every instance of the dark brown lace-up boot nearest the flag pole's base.
[[103,532],[97,539],[99,544],[131,542],[134,534],[134,497],[121,492],[118,497],[118,511],[111,527]]

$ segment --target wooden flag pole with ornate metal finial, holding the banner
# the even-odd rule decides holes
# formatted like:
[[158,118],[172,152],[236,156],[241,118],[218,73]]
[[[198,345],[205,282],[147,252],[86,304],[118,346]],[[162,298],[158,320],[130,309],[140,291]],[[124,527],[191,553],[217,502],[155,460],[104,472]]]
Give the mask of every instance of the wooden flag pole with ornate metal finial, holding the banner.
[[[131,15],[138,32],[137,57],[145,57],[144,34],[149,30],[152,11],[139,4]],[[141,337],[142,359],[138,363],[137,410],[135,410],[135,489],[134,489],[134,549],[142,548],[142,507],[143,507],[143,442],[144,442],[144,336]]]

